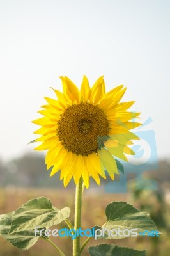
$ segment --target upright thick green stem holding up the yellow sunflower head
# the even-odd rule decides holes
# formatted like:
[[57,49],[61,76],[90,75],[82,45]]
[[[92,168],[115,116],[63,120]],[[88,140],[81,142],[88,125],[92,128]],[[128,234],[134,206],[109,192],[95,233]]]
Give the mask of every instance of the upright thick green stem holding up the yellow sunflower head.
[[[74,229],[77,230],[81,227],[81,198],[82,198],[82,177],[79,179],[79,183],[76,186],[75,191],[75,218]],[[73,256],[79,256],[80,254],[80,236],[77,236],[73,240]]]

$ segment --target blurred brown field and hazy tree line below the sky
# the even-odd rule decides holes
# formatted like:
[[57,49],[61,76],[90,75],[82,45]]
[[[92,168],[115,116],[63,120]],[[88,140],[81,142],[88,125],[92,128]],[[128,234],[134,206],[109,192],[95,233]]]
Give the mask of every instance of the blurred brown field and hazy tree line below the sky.
[[[93,225],[102,225],[105,221],[105,207],[114,200],[122,200],[133,204],[137,209],[150,213],[155,221],[158,230],[164,233],[161,237],[132,237],[127,239],[112,240],[109,243],[116,243],[138,250],[148,250],[148,256],[169,256],[170,252],[170,161],[162,160],[158,170],[146,172],[146,176],[157,181],[158,188],[155,191],[144,189],[145,184],[137,188],[135,177],[128,177],[128,193],[113,194],[105,193],[105,184],[95,185],[91,180],[91,187],[84,191],[82,205],[82,228],[91,228]],[[108,182],[108,181],[107,181]],[[70,207],[70,220],[73,221],[74,211],[74,185],[71,183],[68,188],[63,189],[59,176],[49,178],[46,171],[44,156],[41,154],[26,154],[18,159],[8,162],[0,162],[0,214],[10,212],[31,198],[47,196],[52,204],[58,208]],[[58,227],[63,228],[62,223]],[[54,237],[56,244],[66,255],[71,255],[72,240],[66,237]],[[101,240],[100,243],[106,241]],[[107,241],[108,242],[108,241]],[[98,241],[91,239],[89,245],[98,244]],[[87,248],[82,255],[88,255]],[[56,255],[54,248],[44,241],[38,241],[27,251],[21,251],[0,237],[1,256],[35,256],[35,255]]]

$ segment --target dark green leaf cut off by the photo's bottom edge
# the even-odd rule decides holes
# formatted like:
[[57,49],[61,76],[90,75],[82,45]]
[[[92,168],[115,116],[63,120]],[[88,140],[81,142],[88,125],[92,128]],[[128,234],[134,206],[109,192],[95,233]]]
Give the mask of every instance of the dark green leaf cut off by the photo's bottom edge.
[[88,251],[91,256],[146,256],[146,251],[137,251],[115,244],[90,246]]

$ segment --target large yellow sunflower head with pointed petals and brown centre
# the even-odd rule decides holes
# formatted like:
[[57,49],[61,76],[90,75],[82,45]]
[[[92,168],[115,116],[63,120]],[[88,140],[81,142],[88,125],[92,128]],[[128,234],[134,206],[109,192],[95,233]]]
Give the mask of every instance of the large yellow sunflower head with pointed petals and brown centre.
[[63,93],[53,89],[57,99],[45,97],[48,104],[38,111],[43,117],[33,121],[42,126],[35,131],[40,134],[35,141],[42,142],[35,150],[48,150],[47,170],[52,167],[50,176],[60,170],[65,187],[72,177],[75,184],[82,177],[86,188],[89,177],[100,184],[105,170],[113,180],[119,173],[114,156],[127,161],[126,154],[134,154],[128,145],[139,139],[129,131],[141,125],[132,122],[140,113],[127,111],[134,101],[120,103],[123,85],[105,93],[103,76],[92,88],[84,76],[81,90],[68,77],[60,78]]

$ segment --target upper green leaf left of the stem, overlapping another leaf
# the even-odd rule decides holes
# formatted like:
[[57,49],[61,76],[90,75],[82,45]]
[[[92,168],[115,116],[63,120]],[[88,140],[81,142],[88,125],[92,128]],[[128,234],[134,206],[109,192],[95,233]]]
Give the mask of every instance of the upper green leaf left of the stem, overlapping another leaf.
[[33,230],[36,227],[51,227],[66,220],[70,215],[70,208],[61,210],[52,207],[48,198],[39,197],[22,205],[12,216],[10,234],[13,232]]

